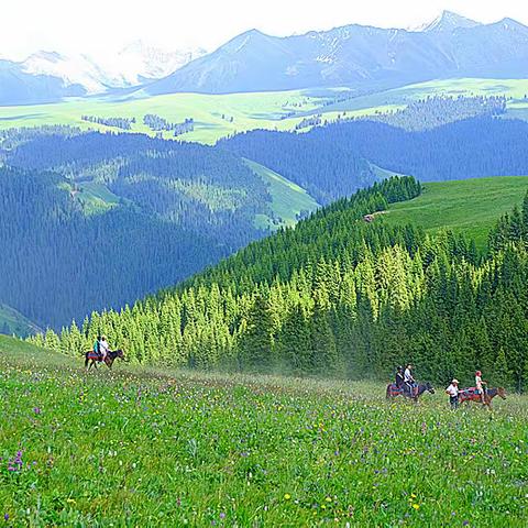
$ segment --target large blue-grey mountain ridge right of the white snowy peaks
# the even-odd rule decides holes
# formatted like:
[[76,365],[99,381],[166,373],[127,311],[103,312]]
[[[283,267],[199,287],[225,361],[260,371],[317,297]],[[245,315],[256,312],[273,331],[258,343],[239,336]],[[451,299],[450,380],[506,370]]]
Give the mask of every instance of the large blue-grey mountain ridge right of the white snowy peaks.
[[528,28],[510,19],[480,24],[446,11],[420,31],[353,24],[276,37],[252,30],[145,91],[227,94],[527,75]]

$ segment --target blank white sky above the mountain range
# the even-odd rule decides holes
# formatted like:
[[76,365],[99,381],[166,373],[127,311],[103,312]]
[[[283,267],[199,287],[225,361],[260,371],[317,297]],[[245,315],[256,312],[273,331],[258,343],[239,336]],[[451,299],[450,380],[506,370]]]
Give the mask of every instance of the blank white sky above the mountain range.
[[101,53],[143,40],[212,51],[256,28],[273,35],[350,23],[416,26],[442,10],[528,24],[526,0],[0,0],[0,56],[36,50]]

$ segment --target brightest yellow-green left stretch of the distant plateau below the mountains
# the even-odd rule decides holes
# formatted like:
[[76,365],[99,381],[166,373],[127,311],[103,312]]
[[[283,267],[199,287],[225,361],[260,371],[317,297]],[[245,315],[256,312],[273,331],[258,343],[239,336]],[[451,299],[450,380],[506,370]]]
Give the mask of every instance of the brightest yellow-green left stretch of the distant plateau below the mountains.
[[[178,139],[215,143],[219,138],[253,130],[256,128],[290,130],[301,118],[282,120],[288,112],[309,111],[321,105],[333,94],[324,90],[311,96],[309,90],[231,94],[209,96],[199,94],[174,94],[168,96],[141,97],[141,94],[125,98],[73,99],[53,105],[0,107],[0,130],[13,127],[34,127],[43,124],[69,124],[81,129],[118,129],[81,121],[82,114],[97,117],[135,118],[131,132],[154,135],[143,124],[146,113],[162,116],[170,122],[182,122],[194,118],[195,131]],[[228,119],[233,117],[233,122]],[[164,138],[173,138],[164,133]]]

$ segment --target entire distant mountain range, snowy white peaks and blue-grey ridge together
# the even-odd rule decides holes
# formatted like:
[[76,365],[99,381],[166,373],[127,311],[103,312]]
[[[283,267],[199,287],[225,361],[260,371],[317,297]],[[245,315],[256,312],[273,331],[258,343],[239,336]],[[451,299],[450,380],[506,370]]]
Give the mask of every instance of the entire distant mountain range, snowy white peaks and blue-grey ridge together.
[[251,30],[209,54],[200,48],[165,52],[141,41],[99,59],[38,52],[23,62],[0,61],[0,106],[123,88],[140,96],[372,89],[527,75],[527,26],[513,19],[482,24],[446,11],[418,30],[351,24],[286,37]]

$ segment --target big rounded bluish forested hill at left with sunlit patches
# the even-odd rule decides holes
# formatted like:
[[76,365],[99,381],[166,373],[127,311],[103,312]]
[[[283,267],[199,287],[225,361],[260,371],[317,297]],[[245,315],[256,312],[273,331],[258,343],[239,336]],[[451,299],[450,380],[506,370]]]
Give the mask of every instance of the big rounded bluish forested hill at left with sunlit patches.
[[61,127],[0,140],[0,302],[44,328],[188,277],[264,235],[256,218],[283,221],[226,151]]

